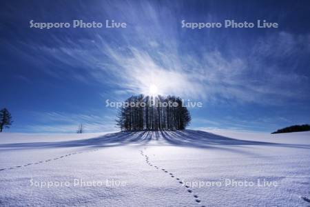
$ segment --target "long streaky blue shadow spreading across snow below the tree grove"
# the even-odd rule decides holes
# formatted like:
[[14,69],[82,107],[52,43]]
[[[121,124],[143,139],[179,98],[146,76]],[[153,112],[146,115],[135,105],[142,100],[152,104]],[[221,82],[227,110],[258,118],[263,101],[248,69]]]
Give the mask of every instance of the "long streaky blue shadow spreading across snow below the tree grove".
[[[29,148],[62,148],[62,147],[107,147],[107,146],[123,146],[127,144],[147,144],[149,141],[155,140],[160,143],[172,144],[175,146],[190,146],[196,148],[223,148],[225,146],[282,146],[291,148],[310,148],[309,145],[293,145],[293,144],[276,144],[263,141],[247,141],[233,139],[214,135],[209,132],[196,130],[178,130],[178,131],[138,131],[138,132],[116,132],[94,137],[91,139],[79,139],[70,141],[55,142],[32,142],[17,144],[0,144],[0,150],[17,150]],[[230,148],[231,149],[231,148]]]

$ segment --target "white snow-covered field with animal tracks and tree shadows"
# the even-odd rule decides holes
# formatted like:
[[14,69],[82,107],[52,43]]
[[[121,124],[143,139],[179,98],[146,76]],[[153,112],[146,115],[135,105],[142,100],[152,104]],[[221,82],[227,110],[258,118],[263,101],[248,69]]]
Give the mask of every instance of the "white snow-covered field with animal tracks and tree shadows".
[[0,206],[310,205],[310,132],[214,133],[1,133]]

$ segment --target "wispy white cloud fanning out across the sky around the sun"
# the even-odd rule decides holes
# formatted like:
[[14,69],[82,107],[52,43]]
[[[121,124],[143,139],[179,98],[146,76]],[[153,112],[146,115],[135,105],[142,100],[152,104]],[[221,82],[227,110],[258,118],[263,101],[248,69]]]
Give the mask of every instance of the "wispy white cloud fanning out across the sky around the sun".
[[[103,4],[97,6],[113,16]],[[101,83],[118,95],[147,93],[156,85],[162,95],[205,101],[279,104],[309,99],[304,92],[309,76],[298,68],[310,55],[310,34],[266,32],[247,41],[250,45],[228,41],[224,50],[216,37],[226,31],[196,39],[192,30],[180,28],[178,7],[159,10],[147,1],[128,3],[130,10],[123,3],[110,6],[127,28],[83,30],[85,35],[74,39],[72,30],[61,30],[61,36],[49,35],[53,44],[21,42],[11,48],[54,77]],[[214,14],[206,18],[216,19]]]

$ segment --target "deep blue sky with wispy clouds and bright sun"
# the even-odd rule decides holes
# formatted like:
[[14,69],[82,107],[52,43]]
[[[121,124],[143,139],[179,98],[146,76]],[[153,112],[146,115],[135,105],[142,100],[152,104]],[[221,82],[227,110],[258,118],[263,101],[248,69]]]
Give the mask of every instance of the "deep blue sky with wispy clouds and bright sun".
[[[116,109],[155,85],[203,102],[189,128],[272,132],[310,120],[307,1],[3,1],[0,108],[9,132],[117,130]],[[127,28],[30,28],[35,22]],[[181,21],[277,22],[279,28],[182,28]],[[4,88],[3,88],[4,87]]]

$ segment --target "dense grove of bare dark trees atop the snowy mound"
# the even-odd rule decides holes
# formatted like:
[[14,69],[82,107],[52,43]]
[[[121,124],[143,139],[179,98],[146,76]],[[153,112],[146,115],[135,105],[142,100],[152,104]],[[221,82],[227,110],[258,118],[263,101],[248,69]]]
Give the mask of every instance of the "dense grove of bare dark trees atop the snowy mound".
[[191,116],[182,100],[174,96],[132,96],[118,112],[121,130],[183,130]]

